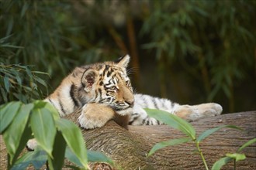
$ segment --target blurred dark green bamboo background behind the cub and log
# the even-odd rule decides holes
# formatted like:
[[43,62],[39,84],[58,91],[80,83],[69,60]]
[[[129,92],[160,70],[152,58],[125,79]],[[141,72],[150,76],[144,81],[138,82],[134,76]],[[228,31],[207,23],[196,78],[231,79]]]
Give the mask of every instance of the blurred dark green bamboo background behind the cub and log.
[[43,98],[75,66],[129,53],[137,93],[256,110],[256,1],[0,1],[3,104]]

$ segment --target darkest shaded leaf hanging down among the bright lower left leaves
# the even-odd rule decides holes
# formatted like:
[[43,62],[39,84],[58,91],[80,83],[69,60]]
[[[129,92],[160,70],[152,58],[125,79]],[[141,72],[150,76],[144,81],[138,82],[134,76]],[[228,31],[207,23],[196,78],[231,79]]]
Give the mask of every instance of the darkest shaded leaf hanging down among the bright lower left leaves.
[[54,150],[53,157],[49,158],[49,168],[50,169],[61,169],[64,164],[64,154],[66,150],[66,141],[64,140],[60,131],[57,131],[54,140]]

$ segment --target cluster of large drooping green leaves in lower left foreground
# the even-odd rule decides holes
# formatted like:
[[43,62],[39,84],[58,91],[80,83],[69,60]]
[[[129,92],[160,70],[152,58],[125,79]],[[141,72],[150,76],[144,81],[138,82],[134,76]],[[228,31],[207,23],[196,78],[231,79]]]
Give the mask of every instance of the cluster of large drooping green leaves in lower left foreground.
[[[30,164],[38,169],[46,162],[50,169],[61,169],[64,158],[85,169],[88,168],[88,160],[112,164],[99,152],[87,152],[80,128],[60,118],[57,110],[46,102],[10,102],[2,104],[0,110],[0,134],[7,148],[9,169],[26,168]],[[38,147],[19,157],[32,137],[36,139]]]

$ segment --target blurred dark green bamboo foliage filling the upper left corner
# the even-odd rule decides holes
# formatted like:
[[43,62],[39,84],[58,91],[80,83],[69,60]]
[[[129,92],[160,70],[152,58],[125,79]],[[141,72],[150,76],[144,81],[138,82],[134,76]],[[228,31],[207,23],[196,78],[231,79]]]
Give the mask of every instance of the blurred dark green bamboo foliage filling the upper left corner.
[[74,66],[102,55],[97,47],[102,42],[88,44],[88,37],[81,36],[86,28],[73,16],[71,1],[6,0],[1,11],[0,55],[5,64],[36,66],[57,78],[54,87]]

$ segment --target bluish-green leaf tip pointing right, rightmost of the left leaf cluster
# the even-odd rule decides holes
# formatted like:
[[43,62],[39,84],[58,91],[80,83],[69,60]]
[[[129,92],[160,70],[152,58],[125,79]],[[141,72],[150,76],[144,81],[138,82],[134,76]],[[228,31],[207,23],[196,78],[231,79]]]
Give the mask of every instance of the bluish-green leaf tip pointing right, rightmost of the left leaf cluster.
[[87,151],[88,162],[108,162],[109,164],[113,165],[113,162],[110,158],[106,155],[102,154],[99,151]]

